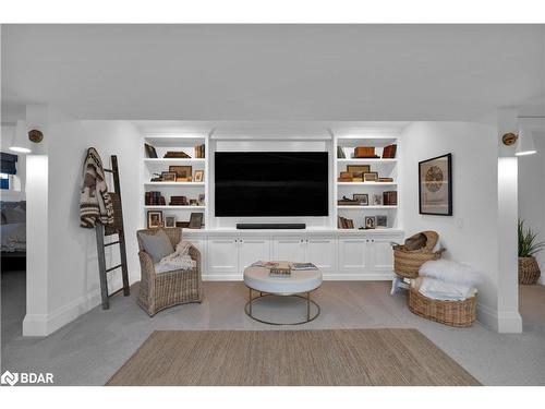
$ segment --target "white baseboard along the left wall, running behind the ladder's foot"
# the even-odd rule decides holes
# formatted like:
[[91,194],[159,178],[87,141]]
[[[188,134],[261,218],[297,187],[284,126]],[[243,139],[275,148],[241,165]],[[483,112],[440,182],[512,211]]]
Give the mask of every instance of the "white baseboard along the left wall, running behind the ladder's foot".
[[[121,287],[121,277],[109,282],[111,288]],[[45,337],[64,325],[71,323],[80,315],[93,310],[101,303],[100,289],[93,290],[69,303],[59,306],[48,314],[26,314],[23,320],[23,336]]]

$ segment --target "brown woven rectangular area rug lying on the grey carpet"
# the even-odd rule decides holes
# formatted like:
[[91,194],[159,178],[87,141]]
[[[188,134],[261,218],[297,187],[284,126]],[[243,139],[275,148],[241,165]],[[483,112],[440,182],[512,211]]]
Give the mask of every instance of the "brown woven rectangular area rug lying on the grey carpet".
[[156,330],[107,385],[479,385],[416,329]]

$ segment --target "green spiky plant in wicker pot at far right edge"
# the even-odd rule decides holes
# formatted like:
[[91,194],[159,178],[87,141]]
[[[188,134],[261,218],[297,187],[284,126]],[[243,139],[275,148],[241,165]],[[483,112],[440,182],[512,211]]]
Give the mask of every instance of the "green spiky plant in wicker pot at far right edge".
[[530,228],[524,230],[524,220],[519,219],[519,284],[533,285],[540,278],[540,265],[534,257],[545,246],[545,242],[536,242],[537,233]]

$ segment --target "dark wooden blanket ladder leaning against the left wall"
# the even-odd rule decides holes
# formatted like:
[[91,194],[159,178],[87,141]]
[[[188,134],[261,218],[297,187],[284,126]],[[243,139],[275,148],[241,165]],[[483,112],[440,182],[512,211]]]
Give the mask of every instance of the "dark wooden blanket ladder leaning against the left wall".
[[[95,224],[95,232],[97,237],[97,255],[98,255],[98,270],[100,274],[100,293],[102,297],[102,310],[110,308],[110,297],[116,296],[118,292],[123,291],[123,296],[131,294],[129,287],[129,272],[126,268],[126,248],[125,248],[125,230],[123,227],[123,210],[121,206],[121,184],[119,182],[119,167],[118,157],[111,155],[111,169],[104,169],[113,177],[113,192],[109,192],[113,204],[113,225],[102,225],[101,222]],[[118,234],[117,241],[110,241],[105,244],[105,237]],[[119,253],[121,263],[107,268],[106,267],[106,248],[119,244]],[[123,279],[123,287],[112,293],[108,292],[108,273],[121,268],[121,276]]]

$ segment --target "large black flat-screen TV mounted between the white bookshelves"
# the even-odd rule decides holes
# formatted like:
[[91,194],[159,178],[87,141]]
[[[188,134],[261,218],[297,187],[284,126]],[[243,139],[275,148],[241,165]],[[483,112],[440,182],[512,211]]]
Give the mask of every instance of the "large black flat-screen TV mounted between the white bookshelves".
[[327,216],[327,152],[216,152],[216,216]]

